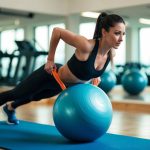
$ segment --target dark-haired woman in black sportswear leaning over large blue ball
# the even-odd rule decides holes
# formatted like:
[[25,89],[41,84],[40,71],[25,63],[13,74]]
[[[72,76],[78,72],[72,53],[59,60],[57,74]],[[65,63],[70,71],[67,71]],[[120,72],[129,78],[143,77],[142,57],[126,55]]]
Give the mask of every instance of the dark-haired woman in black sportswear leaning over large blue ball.
[[[34,71],[14,89],[0,93],[0,106],[11,124],[19,124],[15,109],[31,101],[52,97],[62,91],[53,77],[57,69],[60,79],[69,87],[78,83],[98,81],[109,61],[113,60],[112,51],[117,49],[125,35],[125,22],[115,14],[99,15],[93,39],[87,39],[68,30],[55,28],[50,41],[50,50],[45,65]],[[75,54],[63,66],[54,63],[55,51],[59,40],[75,47]]]

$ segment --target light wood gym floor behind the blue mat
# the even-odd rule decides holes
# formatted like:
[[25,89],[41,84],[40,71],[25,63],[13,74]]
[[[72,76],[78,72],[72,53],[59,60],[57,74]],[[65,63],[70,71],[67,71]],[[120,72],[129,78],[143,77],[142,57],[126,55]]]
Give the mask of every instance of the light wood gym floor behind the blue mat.
[[[3,89],[5,90],[5,88]],[[145,98],[144,95],[146,95]],[[137,98],[127,96],[120,87],[115,88],[109,96],[114,111],[108,132],[150,139],[150,99],[148,99],[150,88],[142,92]],[[51,100],[46,99],[24,105],[17,109],[17,116],[22,120],[54,125],[52,117],[54,101],[55,97]],[[0,110],[0,120],[5,119]]]

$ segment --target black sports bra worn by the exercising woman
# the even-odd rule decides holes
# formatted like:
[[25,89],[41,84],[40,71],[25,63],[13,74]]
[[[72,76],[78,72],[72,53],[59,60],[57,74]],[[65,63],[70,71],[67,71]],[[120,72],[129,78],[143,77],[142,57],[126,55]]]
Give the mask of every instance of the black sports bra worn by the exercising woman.
[[76,55],[74,54],[70,60],[67,62],[67,65],[70,71],[80,80],[88,81],[92,78],[96,78],[102,75],[105,71],[109,61],[110,55],[108,55],[106,63],[101,70],[96,70],[94,67],[96,55],[98,52],[99,47],[99,40],[96,40],[95,46],[86,61],[80,61],[77,59]]

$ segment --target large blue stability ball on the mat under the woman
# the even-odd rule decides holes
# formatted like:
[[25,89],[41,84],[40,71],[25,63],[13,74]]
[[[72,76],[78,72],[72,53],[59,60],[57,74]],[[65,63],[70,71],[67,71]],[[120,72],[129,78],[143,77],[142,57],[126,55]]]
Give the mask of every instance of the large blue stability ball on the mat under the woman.
[[56,128],[66,138],[90,142],[102,136],[112,121],[108,96],[91,84],[78,84],[64,90],[53,107]]

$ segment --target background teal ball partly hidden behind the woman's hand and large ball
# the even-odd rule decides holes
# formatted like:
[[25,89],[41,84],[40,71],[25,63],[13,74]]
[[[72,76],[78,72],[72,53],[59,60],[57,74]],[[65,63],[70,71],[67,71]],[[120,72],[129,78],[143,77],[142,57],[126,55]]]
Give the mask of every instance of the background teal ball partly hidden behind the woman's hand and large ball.
[[116,85],[116,75],[112,71],[106,71],[101,76],[101,82],[98,85],[105,93],[109,93]]

